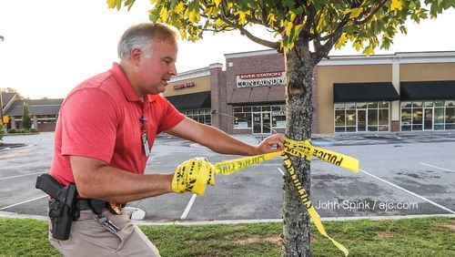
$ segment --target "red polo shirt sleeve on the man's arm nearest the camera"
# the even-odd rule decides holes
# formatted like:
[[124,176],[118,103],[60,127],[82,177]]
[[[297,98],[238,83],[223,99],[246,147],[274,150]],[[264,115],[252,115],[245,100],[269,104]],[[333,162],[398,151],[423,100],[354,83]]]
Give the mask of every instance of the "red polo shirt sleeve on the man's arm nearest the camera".
[[77,90],[66,98],[62,118],[62,155],[110,163],[116,142],[116,105],[97,88]]

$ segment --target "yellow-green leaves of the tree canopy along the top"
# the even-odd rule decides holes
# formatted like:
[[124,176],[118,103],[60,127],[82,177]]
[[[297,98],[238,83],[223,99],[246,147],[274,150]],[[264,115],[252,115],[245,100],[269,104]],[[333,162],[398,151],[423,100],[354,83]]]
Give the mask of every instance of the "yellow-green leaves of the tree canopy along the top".
[[[107,0],[109,7],[128,8],[135,0]],[[182,38],[196,41],[204,31],[238,29],[251,40],[272,48],[292,48],[299,38],[322,47],[340,48],[351,42],[369,55],[377,47],[389,48],[397,32],[407,32],[405,22],[436,17],[455,7],[455,0],[151,0],[150,20],[176,26]],[[427,8],[430,8],[427,9]],[[277,41],[250,32],[253,25],[267,27]],[[324,49],[328,52],[328,49]]]

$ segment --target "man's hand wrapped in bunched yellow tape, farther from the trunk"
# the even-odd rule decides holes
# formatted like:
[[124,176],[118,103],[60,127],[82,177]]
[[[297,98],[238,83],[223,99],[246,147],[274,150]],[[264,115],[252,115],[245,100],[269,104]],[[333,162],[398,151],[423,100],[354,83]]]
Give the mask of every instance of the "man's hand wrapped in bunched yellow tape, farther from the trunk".
[[193,158],[182,162],[172,178],[172,190],[177,193],[191,191],[204,195],[207,184],[215,185],[215,168],[206,158]]

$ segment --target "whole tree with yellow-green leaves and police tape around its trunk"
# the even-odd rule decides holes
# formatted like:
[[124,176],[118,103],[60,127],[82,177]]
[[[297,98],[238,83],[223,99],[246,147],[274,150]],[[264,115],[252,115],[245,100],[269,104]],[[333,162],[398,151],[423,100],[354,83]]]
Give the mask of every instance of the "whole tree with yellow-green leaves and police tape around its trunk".
[[[134,3],[107,0],[109,7],[117,9]],[[333,47],[350,42],[369,56],[377,47],[389,48],[398,32],[406,34],[407,20],[419,23],[454,6],[454,0],[151,0],[149,15],[151,21],[176,26],[189,41],[201,38],[205,31],[237,29],[252,41],[282,52],[287,68],[285,133],[303,140],[311,138],[313,70]],[[276,40],[257,36],[258,26]],[[291,159],[309,194],[309,162]],[[289,176],[284,183],[283,218],[282,254],[309,256],[309,217]]]

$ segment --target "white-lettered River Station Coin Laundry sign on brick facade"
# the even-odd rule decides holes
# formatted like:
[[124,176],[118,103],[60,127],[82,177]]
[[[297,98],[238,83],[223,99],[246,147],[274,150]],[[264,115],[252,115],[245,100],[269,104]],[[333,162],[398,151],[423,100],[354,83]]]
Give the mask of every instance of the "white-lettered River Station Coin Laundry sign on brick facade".
[[286,74],[282,71],[241,74],[236,78],[237,87],[269,87],[286,84]]

